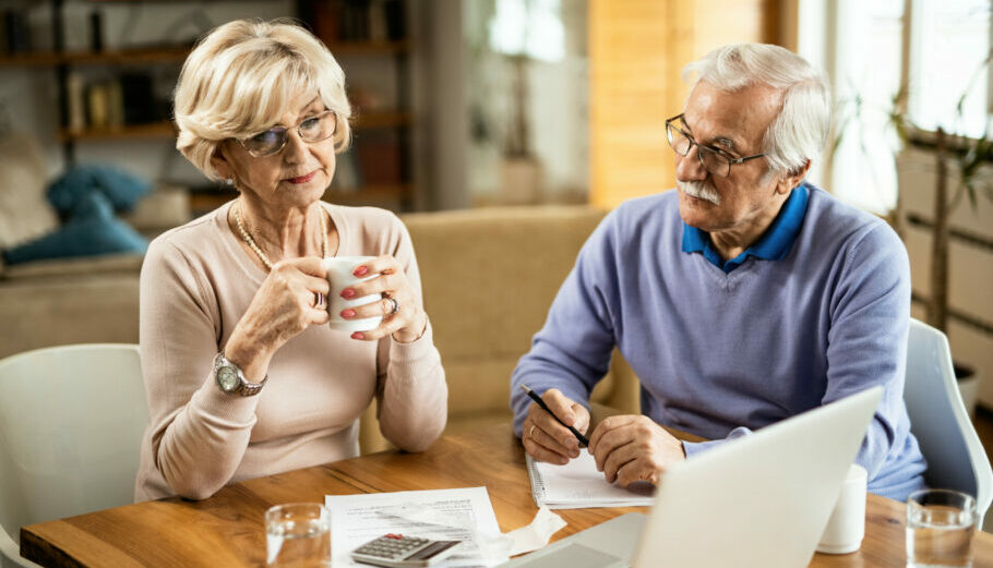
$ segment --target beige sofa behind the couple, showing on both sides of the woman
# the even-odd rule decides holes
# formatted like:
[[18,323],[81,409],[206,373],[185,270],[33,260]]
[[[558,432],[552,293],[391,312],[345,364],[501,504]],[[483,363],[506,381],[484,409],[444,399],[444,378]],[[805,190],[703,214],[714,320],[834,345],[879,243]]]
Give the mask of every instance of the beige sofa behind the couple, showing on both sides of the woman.
[[[424,305],[448,380],[448,432],[511,418],[510,375],[603,213],[585,206],[482,208],[404,216]],[[137,342],[141,258],[35,263],[0,274],[0,356],[38,347]],[[614,358],[595,400],[637,411],[637,387]],[[374,409],[363,451],[386,447]]]

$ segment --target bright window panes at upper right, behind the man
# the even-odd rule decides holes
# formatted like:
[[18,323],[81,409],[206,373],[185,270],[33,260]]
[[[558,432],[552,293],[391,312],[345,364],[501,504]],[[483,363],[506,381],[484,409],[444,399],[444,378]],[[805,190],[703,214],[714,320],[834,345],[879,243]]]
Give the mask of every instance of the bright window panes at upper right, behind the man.
[[907,85],[910,122],[920,129],[981,136],[991,128],[990,0],[800,0],[799,5],[799,51],[830,76],[839,141],[829,169],[812,173],[815,183],[875,213],[894,207],[900,141],[889,113],[900,85]]

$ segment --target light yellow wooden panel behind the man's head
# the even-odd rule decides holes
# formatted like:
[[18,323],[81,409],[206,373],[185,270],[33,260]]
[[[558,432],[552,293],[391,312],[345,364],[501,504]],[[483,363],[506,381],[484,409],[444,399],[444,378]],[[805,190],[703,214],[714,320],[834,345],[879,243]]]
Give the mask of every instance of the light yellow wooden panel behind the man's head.
[[775,43],[780,1],[590,0],[594,205],[614,207],[675,184],[665,122],[685,102],[683,67],[725,44]]

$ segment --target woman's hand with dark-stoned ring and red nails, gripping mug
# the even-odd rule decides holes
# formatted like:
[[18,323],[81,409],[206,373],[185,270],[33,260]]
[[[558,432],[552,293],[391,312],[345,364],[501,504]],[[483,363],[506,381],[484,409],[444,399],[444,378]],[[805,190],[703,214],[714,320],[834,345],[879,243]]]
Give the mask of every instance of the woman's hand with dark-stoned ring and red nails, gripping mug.
[[340,315],[345,319],[383,316],[379,327],[369,331],[356,331],[351,334],[354,339],[374,341],[392,334],[393,339],[400,343],[409,343],[423,335],[428,316],[396,258],[388,254],[376,256],[358,265],[352,274],[357,277],[370,274],[378,276],[342,290],[342,298],[350,300],[368,294],[383,294],[379,302],[342,311]]

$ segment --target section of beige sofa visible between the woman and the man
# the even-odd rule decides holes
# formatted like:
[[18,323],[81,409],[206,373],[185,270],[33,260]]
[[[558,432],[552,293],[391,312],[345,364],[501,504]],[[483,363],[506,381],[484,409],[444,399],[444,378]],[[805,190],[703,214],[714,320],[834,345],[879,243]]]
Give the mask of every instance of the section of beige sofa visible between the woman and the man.
[[[501,207],[412,214],[410,231],[448,382],[448,426],[458,432],[511,419],[510,376],[603,217],[585,206]],[[614,353],[594,400],[636,412],[634,375]],[[362,418],[363,451],[386,447]]]

